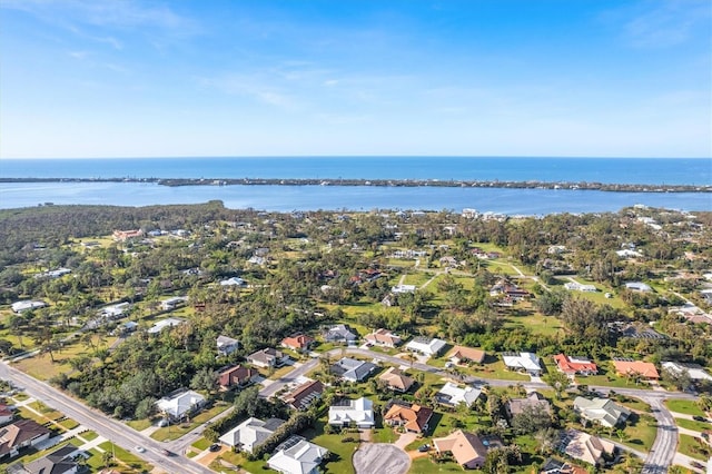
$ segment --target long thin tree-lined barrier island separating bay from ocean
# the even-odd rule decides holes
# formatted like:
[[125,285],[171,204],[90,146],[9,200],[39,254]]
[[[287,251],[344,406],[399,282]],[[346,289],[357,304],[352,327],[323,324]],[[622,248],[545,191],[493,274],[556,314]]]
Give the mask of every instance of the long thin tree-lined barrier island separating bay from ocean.
[[712,185],[642,185],[442,179],[308,179],[308,178],[0,178],[0,182],[152,182],[160,186],[376,186],[443,188],[565,189],[609,192],[712,192]]

